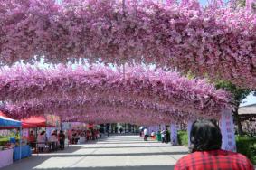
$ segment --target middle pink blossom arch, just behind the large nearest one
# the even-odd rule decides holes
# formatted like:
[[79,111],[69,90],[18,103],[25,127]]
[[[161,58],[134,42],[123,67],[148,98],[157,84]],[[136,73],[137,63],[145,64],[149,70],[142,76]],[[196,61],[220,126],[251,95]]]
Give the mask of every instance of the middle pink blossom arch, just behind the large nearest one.
[[227,92],[216,90],[205,80],[189,80],[176,72],[138,66],[127,67],[126,72],[109,67],[64,66],[49,70],[16,67],[0,72],[0,98],[10,104],[78,97],[124,103],[131,100],[205,115],[220,113],[230,107],[231,101]]

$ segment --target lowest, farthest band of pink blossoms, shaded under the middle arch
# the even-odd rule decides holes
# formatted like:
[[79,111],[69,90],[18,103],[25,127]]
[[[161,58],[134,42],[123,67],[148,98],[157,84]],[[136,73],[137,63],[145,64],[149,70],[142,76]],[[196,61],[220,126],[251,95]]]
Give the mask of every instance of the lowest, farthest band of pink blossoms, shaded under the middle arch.
[[[134,121],[152,122],[177,122],[186,121],[189,118],[218,118],[219,113],[185,113],[179,110],[159,106],[154,103],[143,103],[137,101],[106,100],[106,99],[45,99],[41,102],[24,102],[21,105],[7,105],[8,115],[12,118],[28,118],[42,114],[57,114],[65,120],[77,118],[81,121],[83,118],[93,118],[99,114],[106,114],[101,117],[104,122],[115,118],[134,118]],[[108,116],[109,114],[109,116]],[[116,115],[111,117],[111,115]],[[132,116],[132,117],[131,117]],[[134,117],[133,117],[134,116]],[[110,119],[109,119],[110,118]],[[96,118],[97,119],[97,118]],[[87,120],[88,121],[88,120]],[[95,120],[96,121],[96,120]],[[149,121],[149,122],[148,122]],[[140,122],[143,123],[143,122]]]

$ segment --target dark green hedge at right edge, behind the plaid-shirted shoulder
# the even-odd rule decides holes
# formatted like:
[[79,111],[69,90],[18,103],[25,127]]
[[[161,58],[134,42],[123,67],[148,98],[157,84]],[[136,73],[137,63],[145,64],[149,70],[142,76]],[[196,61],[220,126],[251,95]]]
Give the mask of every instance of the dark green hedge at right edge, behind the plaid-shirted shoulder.
[[237,152],[247,156],[253,164],[256,164],[256,137],[236,137]]

